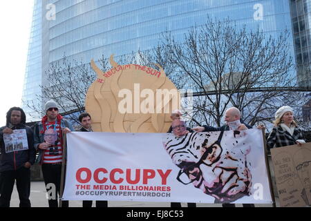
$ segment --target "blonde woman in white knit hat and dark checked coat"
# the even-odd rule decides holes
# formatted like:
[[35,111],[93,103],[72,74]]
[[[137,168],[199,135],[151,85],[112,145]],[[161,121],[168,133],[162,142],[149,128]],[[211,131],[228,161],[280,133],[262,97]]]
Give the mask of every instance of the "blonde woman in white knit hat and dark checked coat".
[[267,148],[305,144],[303,133],[294,122],[290,106],[281,106],[275,113],[274,128],[267,138]]

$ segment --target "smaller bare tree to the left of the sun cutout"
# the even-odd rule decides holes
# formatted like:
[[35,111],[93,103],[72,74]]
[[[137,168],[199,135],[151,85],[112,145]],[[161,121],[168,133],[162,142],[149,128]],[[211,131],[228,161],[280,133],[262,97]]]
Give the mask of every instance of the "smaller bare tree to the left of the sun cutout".
[[[107,59],[100,59],[100,65],[108,66]],[[77,122],[77,113],[84,111],[84,100],[88,87],[95,81],[96,74],[90,64],[81,61],[68,61],[63,57],[50,65],[45,73],[44,85],[40,85],[41,95],[37,95],[39,102],[28,102],[27,106],[39,115],[45,115],[44,104],[54,99],[59,105],[59,113]]]

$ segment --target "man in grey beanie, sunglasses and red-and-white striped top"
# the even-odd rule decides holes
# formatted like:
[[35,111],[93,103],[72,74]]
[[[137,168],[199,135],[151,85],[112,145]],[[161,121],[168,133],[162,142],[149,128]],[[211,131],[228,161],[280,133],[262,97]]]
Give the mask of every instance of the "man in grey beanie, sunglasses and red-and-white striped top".
[[[35,125],[34,142],[39,151],[37,162],[41,165],[46,191],[50,185],[55,185],[57,196],[61,188],[63,137],[62,133],[69,133],[73,128],[58,112],[55,101],[50,100],[45,104],[46,115],[41,122]],[[50,196],[49,196],[50,197]],[[57,198],[48,199],[49,207],[58,207]],[[62,207],[68,207],[68,201],[62,201]]]

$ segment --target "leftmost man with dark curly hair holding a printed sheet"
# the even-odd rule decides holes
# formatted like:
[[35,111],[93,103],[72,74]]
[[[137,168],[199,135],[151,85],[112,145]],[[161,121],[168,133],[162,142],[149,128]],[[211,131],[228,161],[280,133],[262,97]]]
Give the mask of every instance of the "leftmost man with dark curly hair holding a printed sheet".
[[[26,124],[23,109],[13,107],[6,114],[6,126],[0,128],[0,207],[10,207],[11,195],[16,180],[19,206],[30,207],[30,166],[35,163],[33,132]],[[11,137],[15,130],[25,130],[28,148],[14,139],[5,143],[3,137]],[[15,132],[14,132],[15,131]],[[23,133],[23,131],[19,131]],[[6,139],[7,140],[7,139]]]

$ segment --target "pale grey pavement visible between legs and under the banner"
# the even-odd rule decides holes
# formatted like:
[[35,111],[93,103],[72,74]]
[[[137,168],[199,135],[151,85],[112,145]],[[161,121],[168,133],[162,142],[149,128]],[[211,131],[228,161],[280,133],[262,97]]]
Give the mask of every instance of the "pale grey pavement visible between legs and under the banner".
[[[48,207],[48,200],[46,200],[46,189],[44,182],[31,182],[30,202],[32,207]],[[11,199],[11,207],[19,206],[19,196],[16,185],[14,187]],[[70,207],[82,207],[82,201],[70,201]],[[93,202],[95,206],[95,202]],[[109,207],[169,207],[169,202],[133,202],[133,201],[109,201]],[[187,203],[182,203],[182,206],[187,206]],[[198,203],[198,207],[221,207],[221,204],[205,204]],[[242,204],[236,204],[241,207]],[[272,207],[272,204],[256,204],[256,207]],[[278,203],[276,206],[279,206]]]

